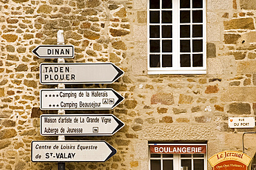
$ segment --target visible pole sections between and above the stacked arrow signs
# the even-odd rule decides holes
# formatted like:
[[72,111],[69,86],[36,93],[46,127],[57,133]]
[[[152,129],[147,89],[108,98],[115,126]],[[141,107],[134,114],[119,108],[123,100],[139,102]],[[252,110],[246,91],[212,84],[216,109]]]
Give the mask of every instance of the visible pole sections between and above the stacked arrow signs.
[[[63,35],[63,30],[58,30],[57,32],[57,45],[64,45],[64,35]],[[65,59],[64,58],[59,58],[58,63],[64,63]],[[58,84],[57,88],[65,88],[65,84]],[[64,115],[65,111],[64,110],[58,110],[58,115]],[[64,135],[58,135],[58,140],[65,140]],[[65,162],[58,162],[58,170],[65,170]]]

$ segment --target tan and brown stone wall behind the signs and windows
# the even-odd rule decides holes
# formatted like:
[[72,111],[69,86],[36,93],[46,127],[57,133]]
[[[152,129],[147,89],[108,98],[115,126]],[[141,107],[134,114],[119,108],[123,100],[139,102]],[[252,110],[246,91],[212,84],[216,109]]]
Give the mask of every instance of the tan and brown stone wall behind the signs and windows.
[[[207,0],[207,74],[147,75],[147,1],[1,0],[0,169],[57,169],[55,162],[31,162],[30,142],[57,140],[39,134],[40,44],[75,46],[66,62],[113,62],[125,75],[113,84],[66,88],[113,88],[125,100],[111,111],[125,127],[113,136],[66,137],[106,140],[118,151],[107,162],[66,163],[66,169],[148,169],[148,142],[208,141],[208,157],[242,151],[241,135],[228,117],[256,114],[256,1]],[[253,157],[255,134],[245,136]],[[211,169],[208,164],[208,169]]]

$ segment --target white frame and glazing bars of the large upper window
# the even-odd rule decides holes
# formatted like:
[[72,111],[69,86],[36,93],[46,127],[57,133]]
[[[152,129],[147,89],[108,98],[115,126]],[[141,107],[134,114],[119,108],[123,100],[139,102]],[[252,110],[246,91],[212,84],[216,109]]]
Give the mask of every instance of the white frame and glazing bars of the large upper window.
[[[160,0],[162,2],[162,0]],[[172,9],[164,9],[164,10],[172,10],[172,67],[167,68],[150,68],[149,66],[149,55],[150,55],[150,44],[149,44],[149,26],[152,25],[160,25],[160,35],[162,34],[161,30],[161,24],[162,23],[152,23],[149,24],[149,11],[154,11],[154,9],[149,9],[149,0],[147,1],[147,74],[148,75],[158,75],[158,74],[206,74],[206,10],[205,10],[205,2],[206,0],[203,0],[203,66],[202,67],[179,67],[180,62],[180,6],[179,2],[180,0],[172,0]],[[192,0],[190,0],[190,8],[183,8],[183,10],[190,10],[190,24],[192,21]],[[159,10],[159,9],[156,9]],[[162,4],[160,4],[160,11],[162,10]],[[160,15],[160,21],[161,21],[161,15]],[[163,24],[166,25],[166,24]],[[192,26],[190,27],[192,29]],[[190,34],[192,34],[192,31],[190,31]],[[160,36],[160,41],[162,37]],[[188,39],[188,38],[186,38]],[[196,39],[191,38],[190,39]],[[178,43],[177,43],[178,42]],[[192,46],[192,44],[191,44]],[[161,53],[161,46],[160,46],[160,53]],[[190,52],[192,53],[192,52]],[[151,53],[154,54],[154,53]],[[168,54],[168,53],[165,53]],[[194,54],[194,53],[193,53]],[[191,57],[192,59],[192,57]],[[161,61],[161,58],[160,58]],[[192,61],[191,61],[192,63]]]

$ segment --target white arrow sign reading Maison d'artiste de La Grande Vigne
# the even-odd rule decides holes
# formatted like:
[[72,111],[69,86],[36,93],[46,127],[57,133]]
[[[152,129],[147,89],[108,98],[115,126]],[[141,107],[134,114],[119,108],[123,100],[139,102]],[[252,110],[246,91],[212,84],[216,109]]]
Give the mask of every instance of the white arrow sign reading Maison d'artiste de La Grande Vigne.
[[41,115],[41,135],[113,135],[125,126],[111,114]]

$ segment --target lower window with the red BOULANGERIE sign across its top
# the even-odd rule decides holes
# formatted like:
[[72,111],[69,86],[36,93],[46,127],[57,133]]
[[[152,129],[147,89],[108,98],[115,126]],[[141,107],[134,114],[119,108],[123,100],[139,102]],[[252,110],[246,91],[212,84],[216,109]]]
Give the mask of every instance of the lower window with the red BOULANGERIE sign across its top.
[[206,144],[149,144],[150,170],[206,170]]

